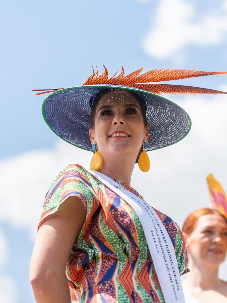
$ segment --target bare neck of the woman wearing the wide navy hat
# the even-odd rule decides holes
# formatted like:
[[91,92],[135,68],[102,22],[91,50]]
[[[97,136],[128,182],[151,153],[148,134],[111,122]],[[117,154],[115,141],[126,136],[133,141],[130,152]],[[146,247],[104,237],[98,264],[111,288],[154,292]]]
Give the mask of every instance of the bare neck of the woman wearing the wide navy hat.
[[103,157],[103,164],[99,172],[111,179],[130,185],[134,165],[135,161],[132,161],[131,157],[127,155],[121,155],[120,157],[109,155]]

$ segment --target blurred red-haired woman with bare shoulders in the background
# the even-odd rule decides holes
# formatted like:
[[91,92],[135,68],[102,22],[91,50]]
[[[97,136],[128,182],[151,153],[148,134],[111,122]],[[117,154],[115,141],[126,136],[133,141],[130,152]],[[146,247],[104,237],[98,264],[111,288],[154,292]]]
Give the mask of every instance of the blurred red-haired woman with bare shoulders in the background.
[[227,220],[218,211],[201,208],[185,220],[190,273],[183,281],[186,303],[226,303],[227,282],[218,278],[227,250]]

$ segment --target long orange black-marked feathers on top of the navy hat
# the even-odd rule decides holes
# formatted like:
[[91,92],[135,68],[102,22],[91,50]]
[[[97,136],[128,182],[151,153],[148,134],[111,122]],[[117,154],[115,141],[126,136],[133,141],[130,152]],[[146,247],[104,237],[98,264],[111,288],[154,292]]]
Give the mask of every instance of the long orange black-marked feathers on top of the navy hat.
[[[104,66],[104,65],[103,65]],[[93,66],[92,66],[93,68]],[[135,72],[124,75],[124,68],[122,66],[121,73],[116,76],[117,72],[109,78],[107,68],[104,66],[104,72],[98,76],[98,70],[94,71],[92,75],[84,82],[83,85],[96,85],[96,84],[109,84],[109,85],[124,85],[133,88],[143,89],[147,92],[162,95],[162,93],[168,94],[227,94],[227,92],[221,92],[209,88],[200,88],[186,85],[171,85],[171,84],[152,84],[149,82],[160,82],[169,80],[178,80],[192,77],[201,77],[207,75],[219,75],[227,74],[227,72],[201,72],[195,69],[165,69],[156,68],[142,75],[139,75],[143,67]],[[115,77],[116,76],[116,77]],[[50,89],[33,89],[33,91],[45,91],[37,93],[36,95],[56,92],[62,88],[50,88]]]

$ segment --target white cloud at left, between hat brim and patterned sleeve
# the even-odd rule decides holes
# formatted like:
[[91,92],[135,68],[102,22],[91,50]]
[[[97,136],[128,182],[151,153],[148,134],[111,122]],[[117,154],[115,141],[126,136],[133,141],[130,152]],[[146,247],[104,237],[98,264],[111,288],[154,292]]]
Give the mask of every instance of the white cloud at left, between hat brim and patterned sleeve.
[[53,149],[30,151],[0,162],[0,204],[4,205],[0,220],[30,228],[34,238],[48,187],[61,169],[87,154],[91,155],[59,140]]

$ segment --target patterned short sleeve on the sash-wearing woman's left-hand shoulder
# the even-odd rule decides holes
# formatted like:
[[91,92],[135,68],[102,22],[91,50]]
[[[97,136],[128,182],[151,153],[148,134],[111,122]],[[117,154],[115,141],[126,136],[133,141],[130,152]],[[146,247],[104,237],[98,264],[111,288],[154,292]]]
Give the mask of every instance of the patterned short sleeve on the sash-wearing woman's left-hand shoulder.
[[77,164],[64,168],[51,184],[44,200],[43,211],[38,225],[49,216],[58,211],[60,205],[70,196],[78,197],[86,211],[86,221],[98,208],[95,192],[88,178],[87,171]]

